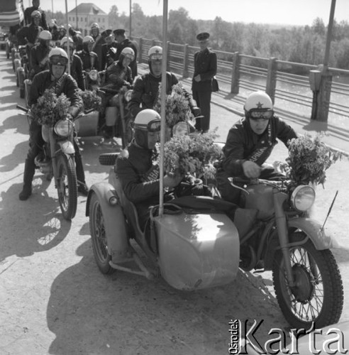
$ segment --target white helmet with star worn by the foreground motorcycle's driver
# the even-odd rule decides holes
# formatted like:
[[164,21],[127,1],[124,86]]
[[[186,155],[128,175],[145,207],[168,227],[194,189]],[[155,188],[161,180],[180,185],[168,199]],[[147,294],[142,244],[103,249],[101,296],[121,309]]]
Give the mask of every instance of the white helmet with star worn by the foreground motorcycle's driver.
[[253,92],[248,96],[245,102],[245,114],[248,118],[272,118],[274,114],[272,99],[262,91]]

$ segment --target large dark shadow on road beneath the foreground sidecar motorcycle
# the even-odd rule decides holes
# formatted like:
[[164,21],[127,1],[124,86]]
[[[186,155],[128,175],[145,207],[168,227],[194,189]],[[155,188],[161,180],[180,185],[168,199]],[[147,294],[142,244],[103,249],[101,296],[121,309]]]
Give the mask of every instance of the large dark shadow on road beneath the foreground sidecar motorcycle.
[[247,309],[265,320],[257,339],[265,340],[272,327],[287,326],[275,299],[253,285],[252,275],[239,273],[231,285],[184,292],[162,278],[102,275],[90,240],[77,255],[81,261],[52,283],[47,322],[56,338],[50,354],[224,354],[228,322],[245,320]]

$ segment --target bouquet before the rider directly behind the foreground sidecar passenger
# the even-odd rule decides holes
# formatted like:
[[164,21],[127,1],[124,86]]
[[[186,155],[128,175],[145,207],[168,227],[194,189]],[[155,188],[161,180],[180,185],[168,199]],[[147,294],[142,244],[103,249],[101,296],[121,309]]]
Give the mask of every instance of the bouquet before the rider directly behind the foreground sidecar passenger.
[[[157,102],[155,102],[154,110],[159,114],[161,112],[161,84],[159,84],[159,92]],[[172,86],[172,92],[166,96],[165,102],[166,125],[170,129],[181,121],[189,121],[194,119],[194,115],[189,107],[189,102],[181,84]]]

